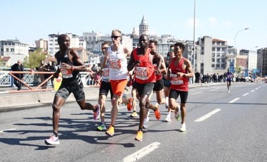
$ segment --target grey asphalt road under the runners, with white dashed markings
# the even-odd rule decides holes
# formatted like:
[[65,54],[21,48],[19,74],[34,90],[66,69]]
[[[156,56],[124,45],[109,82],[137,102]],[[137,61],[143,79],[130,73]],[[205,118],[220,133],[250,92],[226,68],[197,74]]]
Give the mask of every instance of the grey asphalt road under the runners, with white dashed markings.
[[[63,106],[60,145],[47,146],[52,132],[51,106],[0,113],[0,161],[267,161],[267,84],[236,83],[191,88],[186,128],[160,106],[150,112],[143,142],[134,140],[138,118],[121,106],[115,135],[96,132],[99,121],[76,103]],[[89,100],[96,104],[97,98]],[[180,101],[180,99],[178,99]],[[155,95],[152,97],[155,103]],[[110,99],[106,122],[110,123]],[[138,108],[137,108],[138,110]]]

